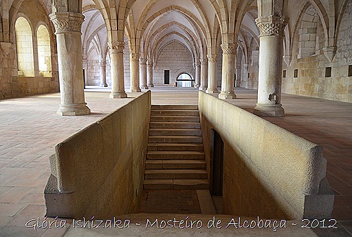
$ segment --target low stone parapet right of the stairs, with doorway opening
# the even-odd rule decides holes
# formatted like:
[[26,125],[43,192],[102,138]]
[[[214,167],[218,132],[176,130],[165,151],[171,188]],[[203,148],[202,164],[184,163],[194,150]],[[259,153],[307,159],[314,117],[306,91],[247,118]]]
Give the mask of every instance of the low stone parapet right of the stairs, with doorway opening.
[[[199,92],[208,173],[210,131],[224,143],[223,211],[240,216],[329,217],[333,191],[322,148],[250,112]],[[210,175],[211,182],[211,175]]]

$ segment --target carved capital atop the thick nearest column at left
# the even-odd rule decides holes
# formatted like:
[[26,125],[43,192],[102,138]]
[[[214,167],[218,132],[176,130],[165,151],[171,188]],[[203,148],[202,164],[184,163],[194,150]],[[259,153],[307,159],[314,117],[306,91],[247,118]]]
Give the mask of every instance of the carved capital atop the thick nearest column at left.
[[56,12],[50,14],[50,20],[54,24],[55,34],[67,32],[80,32],[85,19],[83,14],[77,12]]

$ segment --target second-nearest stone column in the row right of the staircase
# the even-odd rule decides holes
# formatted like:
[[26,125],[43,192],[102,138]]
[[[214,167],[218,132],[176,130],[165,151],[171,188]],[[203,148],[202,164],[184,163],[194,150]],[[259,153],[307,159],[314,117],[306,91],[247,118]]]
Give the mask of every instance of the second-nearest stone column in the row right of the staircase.
[[234,94],[234,67],[237,45],[222,44],[221,49],[223,50],[223,68],[219,99],[236,99],[236,94]]

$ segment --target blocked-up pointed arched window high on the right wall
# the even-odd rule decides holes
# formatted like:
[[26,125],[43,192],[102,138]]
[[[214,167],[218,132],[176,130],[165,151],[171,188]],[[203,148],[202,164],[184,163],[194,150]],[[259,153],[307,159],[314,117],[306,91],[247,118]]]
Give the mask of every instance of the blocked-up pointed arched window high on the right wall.
[[297,58],[307,58],[316,53],[316,30],[319,16],[313,5],[303,13],[302,23],[298,30],[298,55]]

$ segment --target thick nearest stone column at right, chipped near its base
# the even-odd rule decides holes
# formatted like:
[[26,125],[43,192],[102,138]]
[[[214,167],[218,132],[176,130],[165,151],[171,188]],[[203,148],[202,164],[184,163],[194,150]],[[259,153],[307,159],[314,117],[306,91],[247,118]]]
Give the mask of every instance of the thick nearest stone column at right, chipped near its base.
[[259,36],[258,103],[254,114],[259,116],[284,116],[281,105],[283,70],[283,31],[287,21],[284,16],[256,18]]

